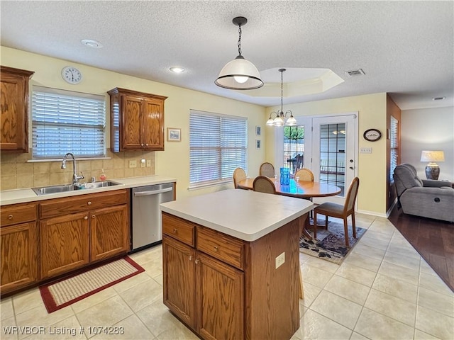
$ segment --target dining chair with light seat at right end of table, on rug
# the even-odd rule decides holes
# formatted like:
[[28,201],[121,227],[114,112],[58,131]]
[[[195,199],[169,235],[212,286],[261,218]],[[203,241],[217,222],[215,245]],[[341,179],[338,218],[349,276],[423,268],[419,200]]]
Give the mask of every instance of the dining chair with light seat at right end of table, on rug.
[[358,196],[358,188],[360,186],[360,179],[355,177],[350,183],[348,188],[347,196],[345,198],[345,203],[331,203],[325,202],[317,205],[314,208],[314,238],[317,237],[317,214],[325,215],[325,227],[328,229],[328,216],[338,217],[343,219],[343,229],[345,232],[345,245],[350,246],[348,242],[348,222],[347,218],[351,215],[352,217],[352,228],[353,228],[353,237],[356,238],[356,227],[355,227],[355,200]]

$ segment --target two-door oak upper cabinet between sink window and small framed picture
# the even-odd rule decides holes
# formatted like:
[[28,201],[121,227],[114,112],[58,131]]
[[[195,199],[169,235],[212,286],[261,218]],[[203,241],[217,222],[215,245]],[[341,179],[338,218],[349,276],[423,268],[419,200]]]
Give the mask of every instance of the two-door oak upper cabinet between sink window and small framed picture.
[[118,87],[107,93],[111,101],[111,151],[163,151],[167,97]]

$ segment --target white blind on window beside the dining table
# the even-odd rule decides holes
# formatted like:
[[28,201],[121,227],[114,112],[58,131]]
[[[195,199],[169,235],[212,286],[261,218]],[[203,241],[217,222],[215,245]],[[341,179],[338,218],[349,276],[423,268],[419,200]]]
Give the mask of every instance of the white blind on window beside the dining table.
[[246,169],[246,118],[191,111],[189,140],[190,185],[230,180],[236,168]]

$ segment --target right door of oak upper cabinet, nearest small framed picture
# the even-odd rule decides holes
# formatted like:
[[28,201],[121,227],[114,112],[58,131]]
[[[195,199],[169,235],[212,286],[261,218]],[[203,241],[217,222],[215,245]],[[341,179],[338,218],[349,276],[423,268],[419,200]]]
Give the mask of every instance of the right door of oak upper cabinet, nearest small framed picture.
[[145,99],[145,149],[164,150],[164,101]]

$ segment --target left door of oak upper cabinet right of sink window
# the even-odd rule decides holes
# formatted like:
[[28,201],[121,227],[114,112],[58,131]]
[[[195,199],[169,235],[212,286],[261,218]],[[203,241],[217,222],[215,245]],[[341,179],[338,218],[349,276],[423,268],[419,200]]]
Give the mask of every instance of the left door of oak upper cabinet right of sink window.
[[143,99],[134,96],[123,96],[121,149],[143,149]]

